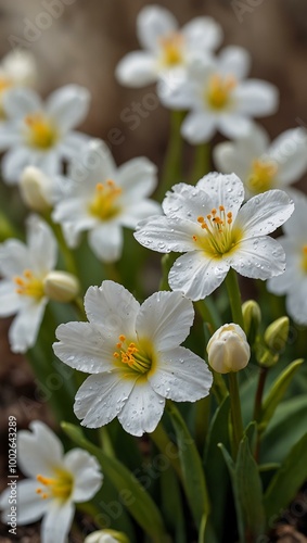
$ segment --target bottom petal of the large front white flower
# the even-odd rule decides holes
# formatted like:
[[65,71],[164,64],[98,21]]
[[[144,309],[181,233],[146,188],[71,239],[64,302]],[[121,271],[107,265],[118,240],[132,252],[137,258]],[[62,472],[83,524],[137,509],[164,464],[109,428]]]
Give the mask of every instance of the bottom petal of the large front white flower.
[[155,430],[164,406],[165,400],[154,392],[146,379],[140,378],[119,413],[118,420],[126,432],[140,437]]

